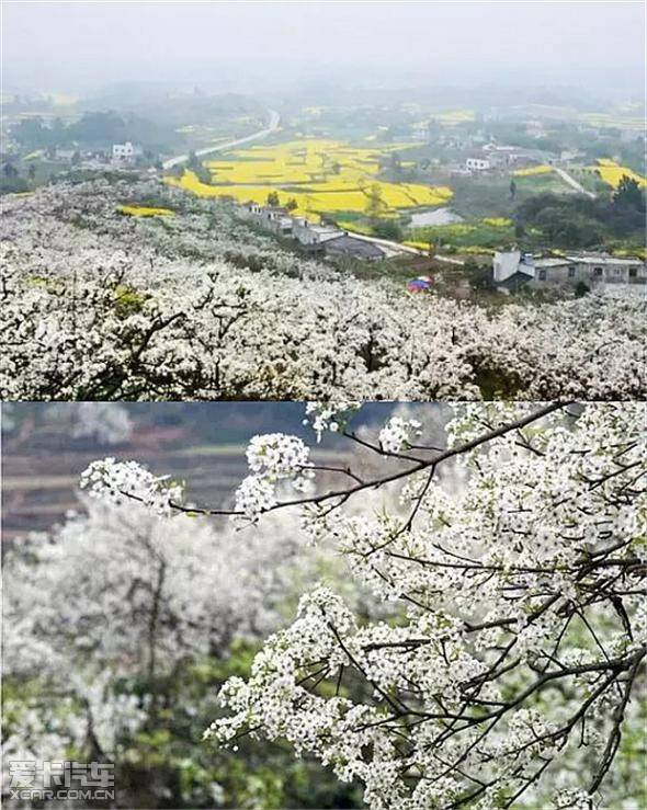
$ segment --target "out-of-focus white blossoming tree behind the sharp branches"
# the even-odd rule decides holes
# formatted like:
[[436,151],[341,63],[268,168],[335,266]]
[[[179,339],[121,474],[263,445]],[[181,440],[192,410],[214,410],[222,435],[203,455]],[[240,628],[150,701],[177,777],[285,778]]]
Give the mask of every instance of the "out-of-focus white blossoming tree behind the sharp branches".
[[5,549],[3,787],[11,761],[112,760],[127,805],[213,806],[223,763],[209,769],[204,751],[182,777],[182,762],[213,706],[208,684],[280,623],[297,545],[283,518],[274,527],[242,538],[84,499]]

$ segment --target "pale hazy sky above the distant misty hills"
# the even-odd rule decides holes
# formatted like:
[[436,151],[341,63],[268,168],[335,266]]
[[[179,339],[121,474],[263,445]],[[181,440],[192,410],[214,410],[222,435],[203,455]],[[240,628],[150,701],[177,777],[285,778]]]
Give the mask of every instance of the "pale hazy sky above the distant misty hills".
[[7,91],[128,79],[234,85],[353,66],[444,84],[620,83],[627,94],[643,80],[642,0],[3,0],[2,10]]

